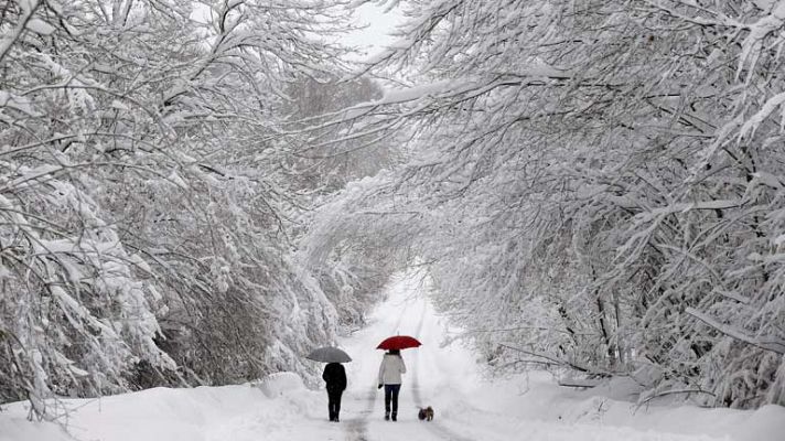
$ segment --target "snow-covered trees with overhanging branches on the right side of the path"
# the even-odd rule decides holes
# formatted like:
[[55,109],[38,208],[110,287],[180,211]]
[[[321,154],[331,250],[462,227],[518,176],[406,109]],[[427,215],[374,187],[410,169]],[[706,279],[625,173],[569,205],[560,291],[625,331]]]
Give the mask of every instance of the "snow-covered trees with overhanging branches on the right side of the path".
[[785,3],[404,4],[368,69],[419,85],[335,123],[415,133],[388,185],[488,357],[783,404]]

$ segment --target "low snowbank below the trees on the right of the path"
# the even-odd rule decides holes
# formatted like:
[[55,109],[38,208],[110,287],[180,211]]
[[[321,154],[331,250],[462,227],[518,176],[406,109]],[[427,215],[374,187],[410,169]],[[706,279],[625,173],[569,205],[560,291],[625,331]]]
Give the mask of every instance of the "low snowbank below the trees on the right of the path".
[[477,402],[486,410],[521,419],[567,424],[628,427],[637,430],[711,435],[733,441],[782,441],[785,408],[735,410],[700,408],[675,401],[634,402],[636,386],[616,379],[594,388],[560,387],[546,373],[530,373],[488,384]]

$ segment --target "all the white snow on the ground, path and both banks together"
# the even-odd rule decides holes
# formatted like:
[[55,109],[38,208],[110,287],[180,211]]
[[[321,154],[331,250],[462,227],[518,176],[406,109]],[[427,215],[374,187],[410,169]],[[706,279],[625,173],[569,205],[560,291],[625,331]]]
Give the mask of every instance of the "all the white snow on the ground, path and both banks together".
[[[350,386],[341,422],[327,421],[326,394],[308,390],[290,373],[258,384],[155,388],[101,399],[63,400],[61,419],[71,434],[50,422],[25,419],[24,402],[3,406],[0,441],[782,441],[785,408],[757,411],[700,409],[626,400],[624,380],[576,390],[546,374],[506,379],[482,377],[470,351],[441,346],[445,321],[427,301],[417,275],[390,284],[369,326],[343,343]],[[402,352],[409,372],[400,392],[398,422],[384,421],[384,394],[376,388],[381,351],[395,334],[417,336],[422,346]],[[435,410],[432,422],[417,419],[418,406]]]

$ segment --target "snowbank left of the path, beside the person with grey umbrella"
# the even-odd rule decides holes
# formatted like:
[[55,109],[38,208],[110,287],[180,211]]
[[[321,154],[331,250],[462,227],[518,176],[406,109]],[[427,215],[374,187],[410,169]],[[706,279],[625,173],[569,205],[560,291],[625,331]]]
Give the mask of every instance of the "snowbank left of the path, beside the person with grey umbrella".
[[[307,390],[297,374],[279,373],[254,385],[154,388],[100,399],[67,399],[63,404],[69,412],[58,420],[60,426],[28,421],[26,402],[14,402],[0,412],[0,441],[73,441],[64,428],[76,439],[90,441],[299,439],[292,437],[297,421],[326,413],[321,411],[322,400],[322,394]],[[304,430],[304,434],[330,430],[322,427]]]

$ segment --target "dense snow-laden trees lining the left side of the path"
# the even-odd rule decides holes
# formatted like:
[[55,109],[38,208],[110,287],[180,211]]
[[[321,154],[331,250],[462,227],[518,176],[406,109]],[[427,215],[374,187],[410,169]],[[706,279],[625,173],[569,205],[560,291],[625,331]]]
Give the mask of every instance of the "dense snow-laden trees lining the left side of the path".
[[0,2],[1,400],[309,369],[336,318],[273,139],[333,4]]

